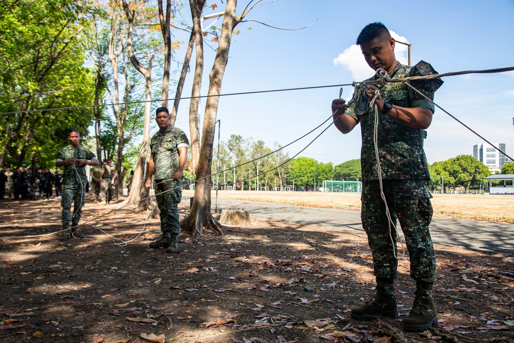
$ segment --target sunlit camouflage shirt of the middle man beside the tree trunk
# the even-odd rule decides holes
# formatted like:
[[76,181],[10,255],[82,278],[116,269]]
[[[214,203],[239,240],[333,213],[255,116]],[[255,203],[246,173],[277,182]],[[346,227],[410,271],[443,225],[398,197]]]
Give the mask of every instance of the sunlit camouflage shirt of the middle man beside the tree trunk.
[[154,179],[172,178],[178,169],[178,148],[188,148],[189,140],[182,130],[170,126],[152,137],[150,147],[154,156]]

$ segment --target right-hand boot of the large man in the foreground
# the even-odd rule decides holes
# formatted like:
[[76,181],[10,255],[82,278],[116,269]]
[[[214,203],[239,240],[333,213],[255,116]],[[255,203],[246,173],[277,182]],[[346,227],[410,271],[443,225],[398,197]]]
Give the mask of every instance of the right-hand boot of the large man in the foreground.
[[403,330],[422,331],[437,324],[437,310],[432,298],[433,283],[416,282],[414,303],[409,316],[403,319]]

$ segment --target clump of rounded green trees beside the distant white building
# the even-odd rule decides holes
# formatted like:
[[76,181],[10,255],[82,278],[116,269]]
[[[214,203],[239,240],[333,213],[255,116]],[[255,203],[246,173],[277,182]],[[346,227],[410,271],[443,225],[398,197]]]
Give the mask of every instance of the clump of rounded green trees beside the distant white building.
[[489,169],[471,155],[459,155],[446,161],[435,162],[429,167],[429,171],[432,189],[442,185],[442,182],[453,189],[479,187],[484,184],[484,177],[491,175]]

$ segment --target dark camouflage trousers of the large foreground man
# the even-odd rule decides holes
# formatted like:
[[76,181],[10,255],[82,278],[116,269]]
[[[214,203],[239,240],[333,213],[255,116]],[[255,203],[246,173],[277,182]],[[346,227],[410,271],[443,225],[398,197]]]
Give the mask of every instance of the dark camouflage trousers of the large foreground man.
[[373,255],[373,274],[383,279],[395,279],[398,276],[398,260],[395,258],[395,255],[398,256],[398,220],[409,251],[410,276],[416,281],[433,282],[435,251],[428,228],[433,210],[428,180],[386,179],[383,180],[383,192],[394,224],[391,225],[391,233],[378,180],[362,185],[361,219]]

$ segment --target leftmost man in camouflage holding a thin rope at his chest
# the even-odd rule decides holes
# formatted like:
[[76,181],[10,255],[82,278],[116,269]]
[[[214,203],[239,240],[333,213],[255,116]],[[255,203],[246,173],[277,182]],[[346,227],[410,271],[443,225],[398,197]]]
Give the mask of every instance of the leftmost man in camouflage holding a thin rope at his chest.
[[[70,130],[68,140],[70,145],[62,148],[56,156],[56,167],[64,167],[61,199],[63,232],[59,238],[61,241],[66,241],[71,237],[84,238],[84,235],[76,230],[76,226],[79,225],[82,206],[85,203],[84,194],[87,183],[85,167],[86,165],[94,167],[99,165],[95,154],[79,144],[79,130]],[[74,203],[73,215],[70,212],[71,202]]]

